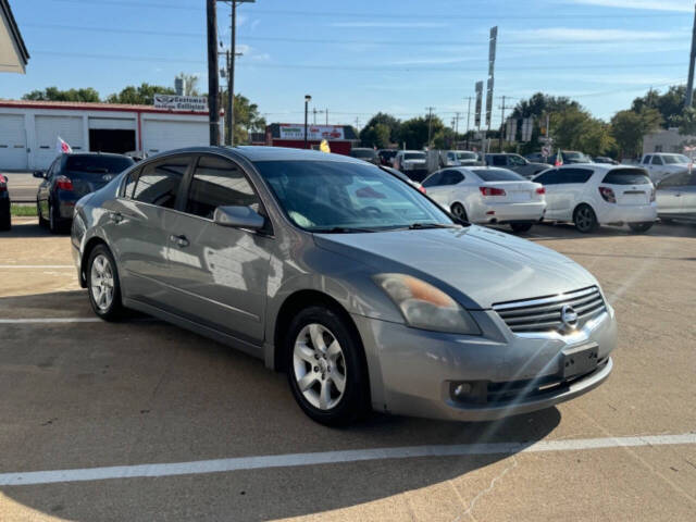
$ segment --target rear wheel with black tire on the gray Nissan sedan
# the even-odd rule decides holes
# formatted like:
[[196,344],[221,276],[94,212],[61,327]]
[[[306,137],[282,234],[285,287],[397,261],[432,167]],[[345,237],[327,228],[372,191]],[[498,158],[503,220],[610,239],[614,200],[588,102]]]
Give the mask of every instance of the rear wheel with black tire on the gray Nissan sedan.
[[116,262],[105,245],[97,245],[89,254],[87,293],[91,309],[104,321],[115,321],[123,315]]

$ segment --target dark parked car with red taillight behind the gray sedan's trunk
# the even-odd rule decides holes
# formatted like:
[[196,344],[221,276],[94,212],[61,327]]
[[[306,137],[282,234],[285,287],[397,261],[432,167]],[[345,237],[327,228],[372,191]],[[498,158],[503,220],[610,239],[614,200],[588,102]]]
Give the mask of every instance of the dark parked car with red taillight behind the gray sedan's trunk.
[[120,172],[133,165],[132,158],[101,152],[60,154],[48,171],[36,171],[42,178],[36,195],[39,224],[54,234],[70,225],[75,202],[107,185]]

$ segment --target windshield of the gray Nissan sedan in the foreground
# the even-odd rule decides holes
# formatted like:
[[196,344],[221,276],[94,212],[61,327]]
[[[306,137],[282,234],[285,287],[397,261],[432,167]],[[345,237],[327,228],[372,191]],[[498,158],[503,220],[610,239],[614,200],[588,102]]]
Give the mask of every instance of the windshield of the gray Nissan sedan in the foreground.
[[418,190],[370,164],[262,161],[256,165],[288,217],[311,232],[453,224]]

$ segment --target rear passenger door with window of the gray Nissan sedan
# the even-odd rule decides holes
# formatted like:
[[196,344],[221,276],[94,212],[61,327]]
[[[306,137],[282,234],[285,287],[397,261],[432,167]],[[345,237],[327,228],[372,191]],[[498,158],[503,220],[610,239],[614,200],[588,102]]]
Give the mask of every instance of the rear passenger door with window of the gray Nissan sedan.
[[166,286],[167,227],[182,204],[183,181],[191,157],[177,154],[132,171],[122,197],[108,202],[110,244],[116,254],[125,296],[170,309]]

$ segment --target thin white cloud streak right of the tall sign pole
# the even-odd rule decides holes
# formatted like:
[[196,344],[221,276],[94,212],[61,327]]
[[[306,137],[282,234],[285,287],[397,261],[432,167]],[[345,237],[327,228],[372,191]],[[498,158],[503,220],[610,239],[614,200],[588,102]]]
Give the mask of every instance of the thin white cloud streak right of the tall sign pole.
[[629,30],[629,29],[585,29],[574,27],[548,27],[543,29],[508,30],[511,35],[523,40],[534,40],[547,44],[549,41],[645,41],[645,40],[673,40],[683,38],[684,35],[674,30]]

